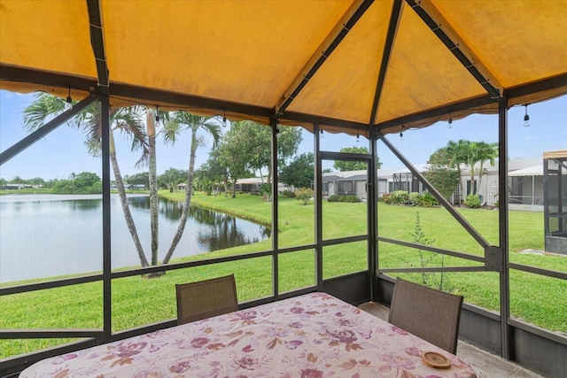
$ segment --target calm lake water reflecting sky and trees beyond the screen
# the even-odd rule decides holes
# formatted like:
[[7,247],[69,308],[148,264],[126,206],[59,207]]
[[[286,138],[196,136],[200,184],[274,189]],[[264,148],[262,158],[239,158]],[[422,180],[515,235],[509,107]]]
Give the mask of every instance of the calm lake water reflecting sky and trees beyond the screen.
[[[150,200],[128,197],[140,241],[151,260]],[[102,270],[100,195],[0,196],[0,282]],[[159,198],[159,261],[175,235],[183,204]],[[112,266],[140,266],[117,195],[111,197]],[[173,258],[268,238],[270,230],[226,214],[190,208]]]

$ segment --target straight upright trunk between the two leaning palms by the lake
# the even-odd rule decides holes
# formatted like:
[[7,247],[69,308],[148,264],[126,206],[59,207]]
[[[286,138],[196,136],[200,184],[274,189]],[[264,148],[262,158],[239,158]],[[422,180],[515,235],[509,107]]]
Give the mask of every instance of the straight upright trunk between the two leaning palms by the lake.
[[151,233],[151,266],[158,265],[158,175],[156,158],[156,124],[154,113],[150,110],[146,112],[148,127],[148,178],[150,181],[150,233]]

